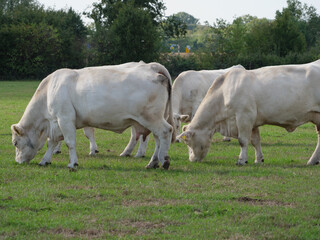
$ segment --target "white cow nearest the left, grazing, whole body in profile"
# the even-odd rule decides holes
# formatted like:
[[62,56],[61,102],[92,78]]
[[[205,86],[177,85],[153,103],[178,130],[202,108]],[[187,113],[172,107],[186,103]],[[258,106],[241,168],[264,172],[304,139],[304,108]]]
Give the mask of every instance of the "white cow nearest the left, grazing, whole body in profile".
[[[134,126],[137,136],[154,134],[156,148],[147,168],[170,165],[168,149],[175,139],[171,77],[158,63],[61,69],[39,85],[18,124],[11,126],[16,161],[29,162],[48,139],[40,165],[51,162],[64,139],[68,167],[78,165],[76,129],[95,127],[117,133]],[[168,117],[168,122],[164,116]]]

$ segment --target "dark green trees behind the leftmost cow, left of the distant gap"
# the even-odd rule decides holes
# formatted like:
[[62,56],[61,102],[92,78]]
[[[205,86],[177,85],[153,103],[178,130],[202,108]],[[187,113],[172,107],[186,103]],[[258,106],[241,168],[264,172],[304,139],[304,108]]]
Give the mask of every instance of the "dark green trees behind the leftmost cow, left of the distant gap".
[[[162,40],[186,25],[161,0],[100,0],[77,13],[35,0],[0,0],[0,79],[42,78],[58,68],[156,61]],[[85,26],[81,14],[93,20]]]

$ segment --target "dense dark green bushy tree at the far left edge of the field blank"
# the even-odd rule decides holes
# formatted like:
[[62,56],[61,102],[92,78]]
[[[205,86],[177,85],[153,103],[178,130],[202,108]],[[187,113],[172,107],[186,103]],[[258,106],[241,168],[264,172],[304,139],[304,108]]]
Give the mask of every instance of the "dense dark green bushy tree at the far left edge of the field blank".
[[84,66],[86,28],[72,9],[45,10],[33,0],[2,0],[1,6],[0,77],[41,78]]

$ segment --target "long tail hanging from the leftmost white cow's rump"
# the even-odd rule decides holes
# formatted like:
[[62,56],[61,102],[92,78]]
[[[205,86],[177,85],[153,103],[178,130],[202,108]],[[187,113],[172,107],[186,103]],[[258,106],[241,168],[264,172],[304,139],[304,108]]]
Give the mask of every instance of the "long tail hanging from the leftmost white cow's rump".
[[168,101],[166,104],[165,116],[167,118],[168,123],[172,126],[172,138],[171,142],[174,143],[176,141],[176,130],[173,122],[173,108],[172,108],[172,79],[169,71],[162,66],[161,64],[156,64],[157,72],[165,76],[168,80],[167,90],[168,90]]

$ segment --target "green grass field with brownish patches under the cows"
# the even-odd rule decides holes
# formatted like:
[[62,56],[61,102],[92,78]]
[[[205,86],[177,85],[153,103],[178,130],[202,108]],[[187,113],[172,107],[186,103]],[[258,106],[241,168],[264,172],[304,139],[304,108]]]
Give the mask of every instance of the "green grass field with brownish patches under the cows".
[[236,140],[214,136],[201,163],[185,144],[170,147],[171,166],[146,170],[146,158],[119,157],[130,131],[97,130],[100,153],[77,132],[79,168],[68,153],[39,167],[15,162],[11,124],[39,82],[0,82],[0,239],[320,239],[320,168],[306,166],[317,141],[311,124],[287,133],[262,127],[263,165],[236,166]]

